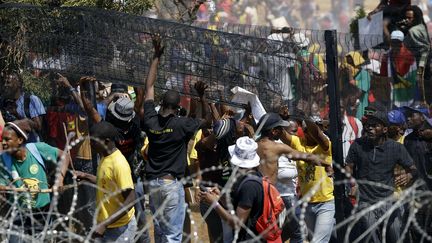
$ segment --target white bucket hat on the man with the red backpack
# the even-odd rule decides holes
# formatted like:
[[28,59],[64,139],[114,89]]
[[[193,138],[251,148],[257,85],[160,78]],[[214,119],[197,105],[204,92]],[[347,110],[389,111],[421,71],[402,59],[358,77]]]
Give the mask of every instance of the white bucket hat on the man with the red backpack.
[[245,169],[257,167],[260,162],[260,157],[256,152],[257,148],[258,144],[252,138],[241,137],[237,139],[235,145],[228,147],[231,164]]

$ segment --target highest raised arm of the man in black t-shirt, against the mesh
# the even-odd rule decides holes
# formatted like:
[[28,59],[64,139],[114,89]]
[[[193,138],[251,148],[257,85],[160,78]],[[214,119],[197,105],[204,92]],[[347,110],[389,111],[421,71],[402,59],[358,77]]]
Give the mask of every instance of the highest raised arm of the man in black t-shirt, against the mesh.
[[157,69],[159,66],[160,57],[162,56],[165,49],[165,47],[162,46],[161,43],[162,41],[159,35],[153,37],[154,54],[146,81],[146,94],[144,98],[145,101],[154,100],[154,84],[156,82]]

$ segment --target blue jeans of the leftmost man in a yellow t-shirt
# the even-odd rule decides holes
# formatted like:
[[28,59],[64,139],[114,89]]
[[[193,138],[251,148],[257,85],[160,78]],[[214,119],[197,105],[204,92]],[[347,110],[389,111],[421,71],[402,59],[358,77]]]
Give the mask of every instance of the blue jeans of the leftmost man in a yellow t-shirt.
[[134,242],[135,233],[137,231],[137,222],[135,217],[132,217],[128,224],[117,227],[107,228],[103,238],[98,238],[95,243],[115,242],[115,243],[129,243]]

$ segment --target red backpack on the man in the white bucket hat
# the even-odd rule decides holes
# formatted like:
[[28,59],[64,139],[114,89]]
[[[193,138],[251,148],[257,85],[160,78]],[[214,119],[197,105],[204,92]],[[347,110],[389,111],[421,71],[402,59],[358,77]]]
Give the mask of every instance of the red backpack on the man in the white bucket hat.
[[258,177],[255,175],[248,175],[237,189],[237,194],[242,185],[247,181],[255,181],[262,184],[264,191],[263,212],[258,217],[255,224],[255,229],[262,235],[267,242],[280,242],[282,243],[282,229],[279,227],[279,215],[285,210],[285,204],[280,196],[279,191],[276,189],[267,177]]

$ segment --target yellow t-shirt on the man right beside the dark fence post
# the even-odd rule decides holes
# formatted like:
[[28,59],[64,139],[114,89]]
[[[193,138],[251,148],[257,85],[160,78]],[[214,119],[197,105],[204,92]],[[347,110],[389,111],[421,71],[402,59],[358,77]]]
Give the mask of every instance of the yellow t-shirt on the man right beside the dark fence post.
[[[322,154],[326,156],[325,161],[332,164],[331,145],[327,151],[324,151],[321,146],[306,146],[303,140],[299,137],[292,136],[291,147],[295,150],[311,154]],[[315,194],[312,195],[309,202],[320,203],[334,199],[333,195],[333,179],[327,176],[323,166],[310,165],[304,161],[297,161],[298,178],[300,183],[300,191],[305,196],[318,183],[321,183],[316,188]]]

